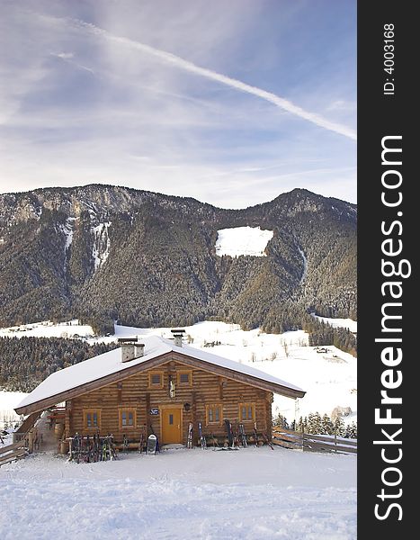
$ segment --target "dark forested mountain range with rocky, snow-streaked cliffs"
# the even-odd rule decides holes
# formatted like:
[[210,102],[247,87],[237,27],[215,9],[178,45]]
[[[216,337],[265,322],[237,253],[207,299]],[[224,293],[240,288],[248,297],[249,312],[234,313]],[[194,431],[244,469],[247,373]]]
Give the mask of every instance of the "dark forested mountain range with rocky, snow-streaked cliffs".
[[[219,257],[218,229],[273,230],[266,257]],[[306,190],[244,210],[92,184],[0,194],[0,325],[79,318],[301,328],[356,318],[356,206]]]

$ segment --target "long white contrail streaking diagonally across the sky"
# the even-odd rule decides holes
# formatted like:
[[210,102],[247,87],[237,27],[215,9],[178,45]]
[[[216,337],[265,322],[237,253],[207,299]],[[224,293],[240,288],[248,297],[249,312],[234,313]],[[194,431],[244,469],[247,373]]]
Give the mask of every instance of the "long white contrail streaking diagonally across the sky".
[[237,88],[237,90],[240,90],[241,92],[246,92],[246,94],[256,95],[257,97],[260,97],[267,102],[274,103],[274,105],[280,107],[283,111],[290,112],[291,114],[299,116],[304,120],[311,121],[312,123],[316,124],[321,128],[334,131],[335,133],[344,135],[344,137],[348,137],[349,139],[357,139],[356,132],[351,128],[348,128],[341,124],[337,124],[333,121],[328,121],[322,116],[316,114],[315,112],[305,111],[298,105],[291,103],[289,100],[284,99],[280,95],[273,94],[272,92],[267,92],[261,88],[258,88],[257,86],[246,85],[246,83],[231,78],[230,76],[222,75],[220,73],[217,73],[216,71],[211,71],[210,69],[207,69],[205,67],[197,66],[196,64],[193,64],[188,60],[184,60],[183,58],[178,57],[170,52],[155,49],[154,47],[150,47],[150,45],[146,45],[145,43],[141,43],[140,41],[130,40],[129,38],[123,38],[121,36],[115,36],[111,32],[103,30],[103,28],[99,28],[92,23],[85,23],[84,21],[80,20],[72,20],[72,23],[78,28],[84,28],[91,33],[102,36],[106,40],[126,45],[127,47],[130,47],[130,49],[137,49],[145,52],[151,56],[163,60],[168,64],[179,67],[184,71],[189,71],[190,73],[204,76],[210,80],[218,81],[222,85],[227,85],[231,88]]

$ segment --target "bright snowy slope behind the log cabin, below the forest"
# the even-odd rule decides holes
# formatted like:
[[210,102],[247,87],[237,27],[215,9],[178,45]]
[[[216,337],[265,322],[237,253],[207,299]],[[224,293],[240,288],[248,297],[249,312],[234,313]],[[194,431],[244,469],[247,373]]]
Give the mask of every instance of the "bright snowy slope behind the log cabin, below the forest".
[[[34,323],[20,329],[13,329],[13,332],[0,329],[0,336],[70,337],[76,334],[91,337],[87,338],[91,343],[97,340],[111,342],[116,338],[136,335],[172,338],[167,328],[136,329],[122,326],[115,327],[115,336],[94,338],[92,328],[77,326],[76,320],[59,325]],[[259,329],[244,331],[237,324],[217,321],[200,322],[185,327],[185,330],[186,341],[191,342],[192,347],[252,365],[307,392],[296,403],[274,395],[274,415],[280,412],[291,421],[316,411],[331,415],[335,407],[341,406],[350,407],[353,411],[347,420],[357,421],[357,360],[336,347],[326,347],[326,353],[317,352],[317,347],[308,347],[308,334],[303,330],[265,334]],[[214,347],[211,347],[213,344]],[[11,410],[19,401],[21,399],[16,399]]]

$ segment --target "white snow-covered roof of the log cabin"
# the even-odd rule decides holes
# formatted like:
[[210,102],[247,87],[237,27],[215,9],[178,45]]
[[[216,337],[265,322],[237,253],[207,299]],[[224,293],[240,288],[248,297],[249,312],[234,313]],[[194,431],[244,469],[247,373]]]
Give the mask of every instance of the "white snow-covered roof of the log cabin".
[[[228,370],[233,370],[239,374],[245,374],[255,379],[264,381],[265,383],[273,383],[291,391],[304,392],[298,386],[295,386],[285,381],[281,381],[271,374],[266,374],[254,367],[242,365],[235,360],[229,360],[222,356],[213,355],[207,351],[195,347],[183,345],[176,347],[173,341],[156,336],[142,338],[142,343],[145,344],[145,354],[129,362],[121,362],[121,348],[116,348],[103,355],[94,356],[89,360],[80,362],[76,365],[71,365],[58,372],[49,375],[45,381],[40,383],[29,395],[27,395],[15,408],[16,410],[22,407],[27,407],[38,401],[49,399],[53,396],[74,390],[79,386],[87,383],[94,383],[103,377],[120,372],[123,376],[124,370],[132,368],[136,365],[146,363],[158,356],[163,356],[171,352],[180,353],[181,355],[191,356],[202,362],[219,366]],[[210,367],[210,366],[209,366]]]

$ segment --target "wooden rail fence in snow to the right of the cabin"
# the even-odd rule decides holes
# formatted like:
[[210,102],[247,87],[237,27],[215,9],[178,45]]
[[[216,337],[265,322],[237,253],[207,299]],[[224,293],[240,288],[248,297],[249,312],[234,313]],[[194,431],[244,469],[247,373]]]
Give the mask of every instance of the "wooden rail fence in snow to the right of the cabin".
[[304,452],[335,452],[339,454],[357,454],[357,440],[328,436],[312,435],[292,429],[273,428],[273,445],[303,450]]

